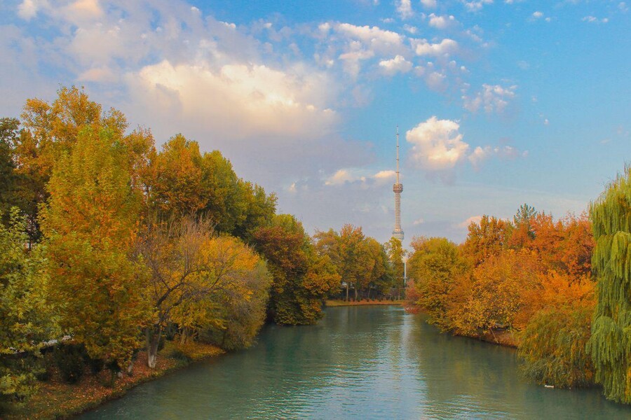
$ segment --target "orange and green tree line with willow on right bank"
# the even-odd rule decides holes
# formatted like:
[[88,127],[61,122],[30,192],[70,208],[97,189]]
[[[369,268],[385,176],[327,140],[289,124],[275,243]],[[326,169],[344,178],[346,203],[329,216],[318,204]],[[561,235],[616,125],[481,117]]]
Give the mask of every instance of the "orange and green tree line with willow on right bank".
[[522,205],[483,216],[463,244],[412,241],[407,299],[443,331],[516,344],[524,374],[562,388],[602,386],[631,403],[631,169],[555,220]]

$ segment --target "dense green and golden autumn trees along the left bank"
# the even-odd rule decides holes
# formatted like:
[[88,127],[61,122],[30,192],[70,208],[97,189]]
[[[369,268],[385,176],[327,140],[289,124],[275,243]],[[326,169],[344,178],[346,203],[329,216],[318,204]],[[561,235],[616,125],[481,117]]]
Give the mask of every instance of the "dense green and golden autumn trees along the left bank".
[[312,324],[328,296],[402,278],[400,242],[312,238],[219,151],[181,134],[158,150],[77,87],[0,119],[0,214],[0,409],[53,365],[114,382],[165,339],[247,347],[266,321]]

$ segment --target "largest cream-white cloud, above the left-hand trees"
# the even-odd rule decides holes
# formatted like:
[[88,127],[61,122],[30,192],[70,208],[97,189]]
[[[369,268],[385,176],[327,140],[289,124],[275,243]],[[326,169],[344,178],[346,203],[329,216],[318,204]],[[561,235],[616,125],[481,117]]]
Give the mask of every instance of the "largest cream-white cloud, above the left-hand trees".
[[163,60],[128,76],[138,102],[152,113],[201,125],[232,138],[313,136],[337,120],[327,109],[327,77],[297,66],[173,64]]

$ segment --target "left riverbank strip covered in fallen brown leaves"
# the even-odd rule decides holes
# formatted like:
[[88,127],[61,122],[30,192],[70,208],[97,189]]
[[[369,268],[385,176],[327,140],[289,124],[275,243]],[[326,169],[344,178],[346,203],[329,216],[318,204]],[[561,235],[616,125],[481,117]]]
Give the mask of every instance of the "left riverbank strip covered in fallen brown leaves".
[[50,380],[39,383],[39,389],[22,407],[7,413],[6,420],[67,419],[102,405],[104,402],[121,398],[127,391],[144,382],[163,377],[199,360],[219,356],[222,349],[211,344],[186,344],[168,342],[158,353],[154,369],[147,367],[147,353],[141,351],[133,368],[133,375],[123,374],[114,386],[107,386],[109,371],[86,374],[76,384],[62,381],[58,372],[51,372]]

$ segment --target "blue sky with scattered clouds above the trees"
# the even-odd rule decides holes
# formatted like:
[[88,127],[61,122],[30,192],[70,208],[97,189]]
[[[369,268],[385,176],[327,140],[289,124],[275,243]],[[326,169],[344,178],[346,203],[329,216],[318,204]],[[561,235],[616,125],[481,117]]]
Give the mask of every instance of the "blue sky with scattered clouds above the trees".
[[631,159],[631,1],[0,0],[0,116],[60,85],[219,150],[308,232],[463,241]]

